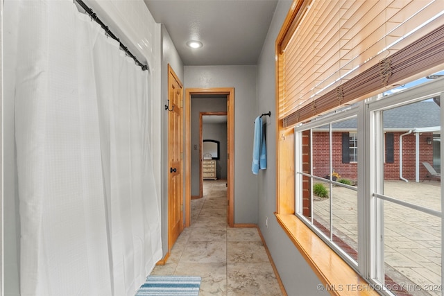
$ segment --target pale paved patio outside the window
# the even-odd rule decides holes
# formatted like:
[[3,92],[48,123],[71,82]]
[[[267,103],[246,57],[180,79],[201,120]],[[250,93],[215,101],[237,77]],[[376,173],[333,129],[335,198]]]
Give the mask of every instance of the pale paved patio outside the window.
[[[384,195],[441,211],[440,185],[385,181]],[[357,250],[357,191],[333,186],[332,201],[334,235]],[[328,198],[314,199],[314,217],[330,229]],[[386,276],[410,295],[441,295],[441,218],[384,201],[384,225]]]

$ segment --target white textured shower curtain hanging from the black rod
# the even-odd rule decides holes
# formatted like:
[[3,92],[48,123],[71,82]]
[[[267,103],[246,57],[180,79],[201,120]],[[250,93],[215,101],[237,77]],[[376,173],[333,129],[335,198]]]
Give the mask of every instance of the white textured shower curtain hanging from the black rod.
[[162,258],[148,74],[72,0],[16,5],[21,295],[134,295]]

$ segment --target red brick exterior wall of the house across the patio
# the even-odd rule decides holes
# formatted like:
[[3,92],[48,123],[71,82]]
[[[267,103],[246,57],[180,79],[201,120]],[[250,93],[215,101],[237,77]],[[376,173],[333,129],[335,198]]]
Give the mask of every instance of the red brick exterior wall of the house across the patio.
[[[400,180],[400,135],[404,132],[394,134],[394,162],[384,164],[385,180]],[[427,138],[433,139],[432,132],[423,132],[419,137],[419,162],[420,180],[427,174],[427,169],[422,162],[433,164],[433,145],[427,143]],[[416,172],[416,137],[415,134],[407,134],[402,137],[402,177],[409,181],[415,180]],[[313,134],[313,173],[319,177],[325,177],[330,173],[329,159],[329,134],[328,132],[314,132]],[[358,151],[359,153],[359,151]],[[385,153],[385,151],[384,151]],[[342,132],[332,134],[332,166],[334,171],[342,178],[357,180],[357,162],[350,164],[342,163]]]

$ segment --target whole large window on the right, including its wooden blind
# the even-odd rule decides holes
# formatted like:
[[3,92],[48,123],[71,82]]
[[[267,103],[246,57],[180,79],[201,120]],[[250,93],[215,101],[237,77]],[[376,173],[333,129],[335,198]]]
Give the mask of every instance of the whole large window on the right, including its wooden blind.
[[276,40],[280,223],[303,221],[387,295],[441,295],[443,189],[422,162],[441,168],[443,36],[440,1],[294,0]]

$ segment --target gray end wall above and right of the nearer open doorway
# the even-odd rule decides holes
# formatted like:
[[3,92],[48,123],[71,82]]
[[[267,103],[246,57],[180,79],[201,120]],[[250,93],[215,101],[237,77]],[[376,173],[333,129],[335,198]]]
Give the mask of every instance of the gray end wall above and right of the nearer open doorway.
[[185,88],[234,87],[234,223],[257,223],[257,177],[251,173],[256,70],[253,65],[184,67]]

